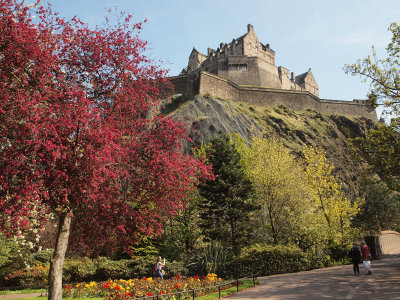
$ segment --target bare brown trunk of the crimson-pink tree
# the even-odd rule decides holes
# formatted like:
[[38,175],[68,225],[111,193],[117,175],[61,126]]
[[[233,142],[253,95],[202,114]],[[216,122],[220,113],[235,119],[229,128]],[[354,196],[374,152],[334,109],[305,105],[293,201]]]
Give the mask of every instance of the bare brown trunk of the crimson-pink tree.
[[53,257],[50,260],[49,270],[49,300],[62,299],[62,269],[65,259],[65,253],[68,247],[68,238],[71,228],[70,214],[60,216],[57,232],[56,245],[54,247]]

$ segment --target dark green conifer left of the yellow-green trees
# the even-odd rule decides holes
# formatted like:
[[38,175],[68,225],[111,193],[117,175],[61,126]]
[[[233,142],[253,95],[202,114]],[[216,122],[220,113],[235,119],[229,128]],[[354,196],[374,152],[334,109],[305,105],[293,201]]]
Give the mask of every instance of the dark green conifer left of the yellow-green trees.
[[205,148],[215,180],[199,184],[203,198],[199,204],[200,227],[208,239],[221,241],[236,252],[249,237],[249,214],[256,209],[251,199],[252,185],[229,135],[214,138],[199,152]]

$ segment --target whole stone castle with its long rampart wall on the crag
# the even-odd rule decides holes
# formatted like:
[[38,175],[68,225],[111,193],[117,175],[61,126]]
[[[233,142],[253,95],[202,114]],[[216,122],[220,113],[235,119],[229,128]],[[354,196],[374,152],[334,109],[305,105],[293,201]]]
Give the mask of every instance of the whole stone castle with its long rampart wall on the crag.
[[179,76],[170,78],[175,92],[186,96],[210,94],[259,106],[283,104],[293,110],[314,109],[323,114],[353,115],[377,120],[367,100],[324,100],[309,69],[295,76],[275,66],[275,52],[262,44],[252,25],[247,33],[207,55],[193,48],[189,63]]

